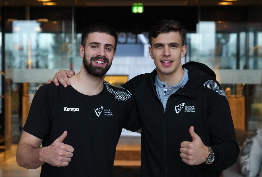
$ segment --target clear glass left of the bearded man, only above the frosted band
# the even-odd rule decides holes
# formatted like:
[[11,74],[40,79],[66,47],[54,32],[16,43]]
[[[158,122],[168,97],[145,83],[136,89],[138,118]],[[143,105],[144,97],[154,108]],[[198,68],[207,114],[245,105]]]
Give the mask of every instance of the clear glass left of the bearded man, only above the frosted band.
[[5,34],[6,68],[69,68],[72,21],[13,20]]

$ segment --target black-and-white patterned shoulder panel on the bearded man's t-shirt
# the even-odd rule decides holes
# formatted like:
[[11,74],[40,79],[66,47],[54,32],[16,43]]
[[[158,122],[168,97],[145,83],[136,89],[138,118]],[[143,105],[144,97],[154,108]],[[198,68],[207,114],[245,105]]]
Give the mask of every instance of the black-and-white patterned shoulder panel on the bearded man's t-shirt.
[[132,94],[123,87],[114,87],[108,82],[104,81],[106,89],[109,93],[113,94],[117,101],[126,101],[132,98]]

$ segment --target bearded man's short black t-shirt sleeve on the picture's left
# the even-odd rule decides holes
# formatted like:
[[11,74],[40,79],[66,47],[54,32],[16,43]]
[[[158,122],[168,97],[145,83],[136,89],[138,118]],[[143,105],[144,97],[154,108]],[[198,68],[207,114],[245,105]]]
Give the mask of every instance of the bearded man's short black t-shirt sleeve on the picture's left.
[[52,101],[56,98],[51,94],[50,86],[41,86],[33,100],[23,130],[40,139],[44,139],[50,132],[52,122]]

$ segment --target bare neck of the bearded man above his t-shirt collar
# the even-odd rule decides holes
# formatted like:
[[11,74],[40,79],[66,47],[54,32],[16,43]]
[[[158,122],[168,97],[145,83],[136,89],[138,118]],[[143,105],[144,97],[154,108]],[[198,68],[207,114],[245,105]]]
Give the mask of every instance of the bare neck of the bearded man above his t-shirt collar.
[[103,77],[95,77],[86,72],[82,65],[79,73],[69,78],[70,84],[80,93],[84,95],[97,95],[103,90]]

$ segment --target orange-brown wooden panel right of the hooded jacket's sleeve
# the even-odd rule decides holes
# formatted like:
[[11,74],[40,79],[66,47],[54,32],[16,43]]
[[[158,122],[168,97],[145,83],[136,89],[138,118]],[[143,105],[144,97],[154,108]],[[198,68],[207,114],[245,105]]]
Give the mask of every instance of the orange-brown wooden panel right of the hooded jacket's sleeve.
[[228,103],[234,127],[245,130],[245,97],[228,97]]

